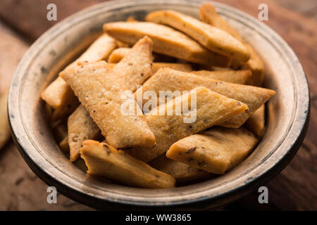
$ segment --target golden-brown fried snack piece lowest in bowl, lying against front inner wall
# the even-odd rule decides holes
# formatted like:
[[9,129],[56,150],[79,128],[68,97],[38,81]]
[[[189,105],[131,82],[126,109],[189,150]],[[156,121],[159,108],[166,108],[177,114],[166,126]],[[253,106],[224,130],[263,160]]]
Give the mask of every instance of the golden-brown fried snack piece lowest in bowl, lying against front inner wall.
[[139,188],[174,188],[173,176],[156,170],[106,143],[87,140],[80,157],[88,167],[87,174],[104,177],[128,186]]

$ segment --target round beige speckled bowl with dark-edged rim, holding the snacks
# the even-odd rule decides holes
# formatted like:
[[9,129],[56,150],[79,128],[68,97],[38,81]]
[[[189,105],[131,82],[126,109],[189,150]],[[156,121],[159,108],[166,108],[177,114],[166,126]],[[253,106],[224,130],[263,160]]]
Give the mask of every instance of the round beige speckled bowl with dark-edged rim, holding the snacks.
[[173,9],[194,17],[204,1],[108,1],[61,21],[30,47],[13,76],[8,117],[20,154],[47,184],[80,203],[106,210],[206,210],[220,207],[266,184],[297,152],[309,120],[309,87],[290,46],[255,18],[218,4],[218,12],[240,31],[265,63],[264,86],[277,94],[267,104],[267,130],[259,146],[242,164],[223,176],[173,189],[151,190],[111,184],[69,162],[54,141],[44,115],[41,91],[92,39],[106,22],[150,11]]

